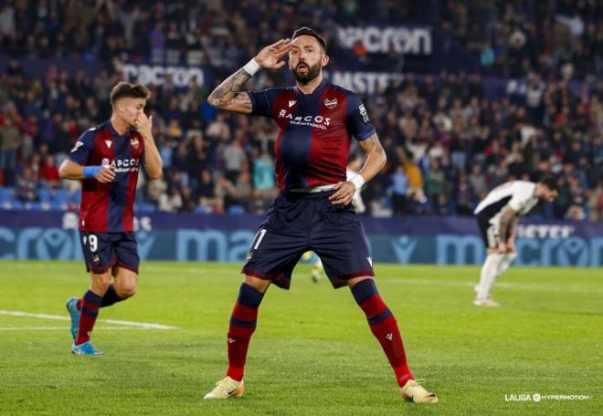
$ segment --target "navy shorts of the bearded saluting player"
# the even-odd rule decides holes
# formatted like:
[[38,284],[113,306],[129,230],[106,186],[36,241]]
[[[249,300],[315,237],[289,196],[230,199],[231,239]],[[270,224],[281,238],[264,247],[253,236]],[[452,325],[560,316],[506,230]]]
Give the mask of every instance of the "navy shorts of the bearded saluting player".
[[321,257],[333,287],[375,276],[365,231],[352,204],[333,205],[333,191],[281,192],[259,225],[241,273],[291,286],[293,267],[307,251]]

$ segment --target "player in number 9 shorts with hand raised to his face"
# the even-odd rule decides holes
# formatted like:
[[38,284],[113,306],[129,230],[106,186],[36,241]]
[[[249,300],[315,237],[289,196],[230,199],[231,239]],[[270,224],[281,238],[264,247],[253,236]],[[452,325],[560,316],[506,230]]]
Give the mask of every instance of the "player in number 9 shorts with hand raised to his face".
[[163,166],[153,140],[153,116],[144,114],[149,96],[143,85],[117,84],[111,91],[111,120],[84,132],[59,169],[61,178],[82,182],[79,237],[91,277],[84,296],[67,301],[74,354],[101,354],[90,344],[99,308],[136,293],[140,259],[133,205],[138,170],[144,166],[157,179]]

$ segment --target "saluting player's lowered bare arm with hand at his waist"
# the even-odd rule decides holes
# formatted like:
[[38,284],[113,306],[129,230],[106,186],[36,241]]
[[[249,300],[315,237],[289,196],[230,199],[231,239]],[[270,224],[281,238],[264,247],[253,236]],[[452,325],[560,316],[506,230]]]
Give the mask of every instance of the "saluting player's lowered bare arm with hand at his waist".
[[[360,148],[365,151],[366,161],[359,175],[362,175],[364,181],[368,182],[383,169],[386,165],[386,151],[383,150],[381,142],[376,133],[366,140],[359,141]],[[353,178],[354,179],[354,178]],[[353,182],[337,182],[333,189],[337,190],[329,197],[334,204],[346,205],[352,202],[356,187]]]

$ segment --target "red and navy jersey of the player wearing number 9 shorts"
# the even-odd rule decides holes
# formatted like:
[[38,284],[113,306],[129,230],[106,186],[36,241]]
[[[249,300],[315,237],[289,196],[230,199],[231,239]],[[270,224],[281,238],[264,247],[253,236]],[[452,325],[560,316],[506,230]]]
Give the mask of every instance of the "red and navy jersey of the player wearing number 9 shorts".
[[144,166],[144,140],[137,130],[119,134],[111,121],[85,131],[69,153],[82,166],[112,167],[113,182],[84,179],[79,229],[97,233],[132,233],[139,167]]

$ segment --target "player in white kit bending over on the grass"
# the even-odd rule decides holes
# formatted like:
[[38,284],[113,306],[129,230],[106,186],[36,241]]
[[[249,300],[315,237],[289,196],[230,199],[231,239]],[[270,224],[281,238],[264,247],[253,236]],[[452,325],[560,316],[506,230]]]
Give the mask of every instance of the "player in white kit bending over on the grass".
[[546,176],[540,182],[512,181],[494,188],[478,204],[477,216],[481,237],[486,244],[486,260],[481,267],[480,283],[475,286],[476,307],[498,307],[490,289],[517,256],[515,235],[520,216],[529,213],[542,200],[549,203],[558,194],[555,178]]

